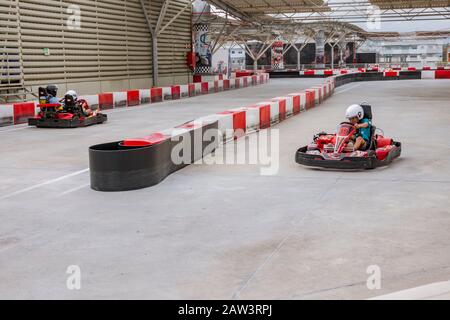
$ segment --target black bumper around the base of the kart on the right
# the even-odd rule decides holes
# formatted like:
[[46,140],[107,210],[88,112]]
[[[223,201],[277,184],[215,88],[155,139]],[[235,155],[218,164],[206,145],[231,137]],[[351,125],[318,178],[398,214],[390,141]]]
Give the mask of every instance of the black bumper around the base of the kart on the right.
[[309,167],[340,170],[374,169],[390,164],[395,158],[398,158],[401,155],[400,142],[395,142],[395,148],[393,148],[383,160],[378,160],[375,154],[368,157],[343,157],[336,160],[326,159],[320,154],[306,153],[307,149],[307,147],[303,147],[297,151],[295,161],[298,164]]

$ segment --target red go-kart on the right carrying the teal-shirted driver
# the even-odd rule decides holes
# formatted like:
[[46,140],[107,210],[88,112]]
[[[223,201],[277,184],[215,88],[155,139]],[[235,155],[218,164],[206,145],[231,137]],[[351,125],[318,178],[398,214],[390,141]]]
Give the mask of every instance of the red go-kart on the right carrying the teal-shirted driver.
[[[363,106],[367,118],[372,118],[370,106]],[[319,133],[314,142],[300,148],[296,154],[296,162],[305,166],[327,169],[374,169],[386,166],[400,157],[400,142],[377,134],[372,126],[370,145],[365,151],[354,151],[352,137],[356,128],[349,122],[339,125],[337,134]]]

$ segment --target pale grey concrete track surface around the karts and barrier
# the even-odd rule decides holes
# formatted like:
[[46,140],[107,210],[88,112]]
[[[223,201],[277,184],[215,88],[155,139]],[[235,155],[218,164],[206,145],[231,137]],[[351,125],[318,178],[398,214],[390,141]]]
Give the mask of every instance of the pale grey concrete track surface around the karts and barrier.
[[[450,81],[353,83],[278,125],[280,171],[193,165],[99,193],[88,147],[304,89],[321,79],[115,110],[85,129],[2,128],[0,298],[365,299],[450,279]],[[297,165],[314,133],[367,100],[401,159],[365,172]],[[243,143],[242,141],[238,143]],[[81,290],[66,287],[68,266]],[[369,266],[381,290],[368,290]]]

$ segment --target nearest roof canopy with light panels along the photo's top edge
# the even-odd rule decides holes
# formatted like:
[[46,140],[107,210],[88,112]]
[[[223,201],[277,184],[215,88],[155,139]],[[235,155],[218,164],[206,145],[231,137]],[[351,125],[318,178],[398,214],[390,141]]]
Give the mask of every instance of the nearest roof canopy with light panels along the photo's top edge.
[[264,16],[295,21],[366,22],[374,15],[383,21],[444,20],[450,18],[448,0],[208,0],[242,21]]

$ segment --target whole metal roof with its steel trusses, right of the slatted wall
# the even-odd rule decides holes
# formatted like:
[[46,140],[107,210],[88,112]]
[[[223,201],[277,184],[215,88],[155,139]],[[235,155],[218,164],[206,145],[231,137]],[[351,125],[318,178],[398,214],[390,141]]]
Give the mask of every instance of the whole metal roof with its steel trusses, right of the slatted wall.
[[[414,33],[367,31],[354,23],[374,15],[382,21],[450,19],[450,0],[208,0],[212,15],[211,35],[217,50],[227,41],[313,41],[323,30],[330,42],[367,39],[442,38],[450,30]],[[370,9],[370,10],[369,10]],[[375,10],[375,11],[374,11]]]

